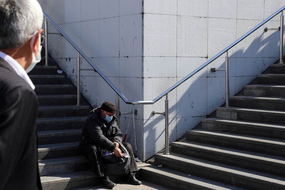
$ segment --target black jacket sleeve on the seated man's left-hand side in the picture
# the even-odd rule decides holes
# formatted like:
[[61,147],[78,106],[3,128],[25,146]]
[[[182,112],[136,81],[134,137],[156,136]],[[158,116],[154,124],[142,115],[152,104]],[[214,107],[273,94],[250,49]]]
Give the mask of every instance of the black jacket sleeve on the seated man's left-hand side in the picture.
[[101,130],[101,126],[103,125],[104,123],[102,121],[96,117],[93,118],[92,115],[89,115],[85,122],[85,127],[91,141],[93,141],[96,145],[101,146],[101,148],[110,150],[114,143],[104,136],[103,131]]

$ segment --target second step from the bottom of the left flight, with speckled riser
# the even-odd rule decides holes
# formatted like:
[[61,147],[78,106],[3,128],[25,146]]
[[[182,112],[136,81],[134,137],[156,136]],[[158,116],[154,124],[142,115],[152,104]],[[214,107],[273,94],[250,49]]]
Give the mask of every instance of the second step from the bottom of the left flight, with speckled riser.
[[82,156],[39,160],[40,176],[72,173],[90,169],[89,161]]

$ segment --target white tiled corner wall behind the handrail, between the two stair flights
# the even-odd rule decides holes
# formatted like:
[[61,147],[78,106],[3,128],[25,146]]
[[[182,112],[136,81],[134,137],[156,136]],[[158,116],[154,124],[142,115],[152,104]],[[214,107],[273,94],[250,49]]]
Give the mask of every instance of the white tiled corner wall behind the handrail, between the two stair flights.
[[[39,0],[42,8],[130,101],[151,101],[199,68],[258,23],[272,15],[280,0]],[[278,60],[280,14],[229,54],[230,95]],[[49,31],[56,32],[49,24]],[[49,53],[76,83],[77,52],[62,36],[49,35]],[[263,58],[261,58],[263,57]],[[82,59],[82,68],[91,68]],[[225,54],[168,94],[169,142],[180,138],[225,102]],[[115,103],[116,94],[94,71],[82,71],[81,91],[94,107]],[[152,105],[129,105],[135,131],[127,140],[141,160],[164,145],[165,97]],[[121,117],[126,132],[130,115]],[[155,146],[153,146],[155,144]]]

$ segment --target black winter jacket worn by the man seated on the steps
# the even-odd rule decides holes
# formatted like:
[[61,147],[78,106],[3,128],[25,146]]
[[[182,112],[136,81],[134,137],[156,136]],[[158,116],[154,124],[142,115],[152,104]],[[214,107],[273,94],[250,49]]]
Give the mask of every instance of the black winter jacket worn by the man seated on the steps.
[[90,111],[81,135],[80,148],[86,144],[94,144],[110,152],[116,147],[114,141],[122,142],[123,140],[123,134],[117,125],[117,117],[113,116],[108,123],[101,115],[101,108]]

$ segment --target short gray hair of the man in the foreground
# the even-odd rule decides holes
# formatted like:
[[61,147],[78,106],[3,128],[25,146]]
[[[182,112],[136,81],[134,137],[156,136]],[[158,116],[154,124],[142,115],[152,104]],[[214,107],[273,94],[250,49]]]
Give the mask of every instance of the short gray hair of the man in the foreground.
[[42,28],[37,0],[0,0],[0,49],[19,48]]

